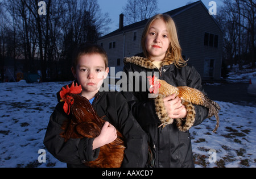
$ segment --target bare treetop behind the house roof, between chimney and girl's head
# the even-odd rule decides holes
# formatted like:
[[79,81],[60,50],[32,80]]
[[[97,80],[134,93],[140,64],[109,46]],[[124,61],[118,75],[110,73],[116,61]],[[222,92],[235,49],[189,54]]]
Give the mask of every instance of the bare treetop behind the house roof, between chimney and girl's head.
[[158,0],[128,0],[126,6],[123,7],[125,24],[148,19],[158,10]]

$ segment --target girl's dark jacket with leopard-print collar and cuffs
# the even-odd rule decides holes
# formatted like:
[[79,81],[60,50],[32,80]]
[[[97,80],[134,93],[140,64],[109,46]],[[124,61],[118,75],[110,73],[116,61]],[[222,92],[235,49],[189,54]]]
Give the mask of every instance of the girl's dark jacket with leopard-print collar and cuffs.
[[[153,154],[151,166],[194,167],[189,131],[179,131],[175,122],[164,128],[158,128],[161,123],[158,115],[156,115],[155,99],[148,98],[148,88],[142,91],[142,83],[147,80],[146,76],[150,74],[148,72],[153,74],[157,72],[159,73],[159,78],[167,81],[168,84],[189,86],[203,91],[200,74],[193,67],[176,68],[168,59],[164,59],[162,62],[163,67],[159,70],[150,60],[144,58],[143,54],[127,57],[124,59],[124,63],[126,65],[123,68],[123,72],[126,73],[129,80],[127,80],[127,92],[123,92],[123,95],[125,95],[133,115],[149,136],[150,148]],[[133,74],[132,72],[138,73]],[[133,87],[131,84],[133,84]],[[136,89],[138,84],[140,85],[139,90]],[[208,109],[203,106],[193,105],[193,110],[196,113],[193,126],[196,126],[207,118]]]

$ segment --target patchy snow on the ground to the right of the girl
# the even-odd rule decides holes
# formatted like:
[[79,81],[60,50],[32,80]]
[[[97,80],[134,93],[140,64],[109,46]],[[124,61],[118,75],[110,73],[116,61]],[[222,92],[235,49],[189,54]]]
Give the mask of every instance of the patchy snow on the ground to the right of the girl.
[[214,117],[190,130],[196,167],[256,167],[256,108],[218,104],[220,127],[215,134]]

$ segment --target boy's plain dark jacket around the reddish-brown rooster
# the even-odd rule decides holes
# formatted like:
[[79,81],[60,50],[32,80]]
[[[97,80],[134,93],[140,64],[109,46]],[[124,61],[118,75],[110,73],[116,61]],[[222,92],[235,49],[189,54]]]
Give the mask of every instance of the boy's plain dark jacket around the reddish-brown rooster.
[[[59,93],[57,93],[60,101]],[[127,102],[118,92],[98,92],[92,103],[99,116],[125,137],[125,157],[122,167],[144,167],[148,158],[147,135],[131,115]],[[100,148],[92,150],[94,139],[69,139],[66,143],[61,138],[61,124],[68,119],[63,111],[63,102],[55,107],[44,138],[44,145],[56,159],[67,163],[68,167],[85,167],[86,161],[96,160]]]

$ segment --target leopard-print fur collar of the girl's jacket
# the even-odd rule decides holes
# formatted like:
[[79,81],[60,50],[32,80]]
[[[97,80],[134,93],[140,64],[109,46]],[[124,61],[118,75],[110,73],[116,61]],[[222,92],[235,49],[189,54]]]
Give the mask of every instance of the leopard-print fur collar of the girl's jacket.
[[[156,68],[156,66],[154,64],[152,64],[152,61],[150,59],[147,59],[146,57],[143,57],[143,56],[125,57],[123,59],[123,62],[125,64],[132,63],[132,64],[135,64],[135,65],[141,66],[143,68],[147,68],[147,69],[155,69]],[[165,66],[165,65],[171,65],[171,64],[174,64],[172,62],[172,60],[165,58],[162,61],[161,65]]]

